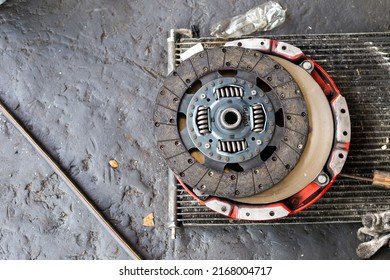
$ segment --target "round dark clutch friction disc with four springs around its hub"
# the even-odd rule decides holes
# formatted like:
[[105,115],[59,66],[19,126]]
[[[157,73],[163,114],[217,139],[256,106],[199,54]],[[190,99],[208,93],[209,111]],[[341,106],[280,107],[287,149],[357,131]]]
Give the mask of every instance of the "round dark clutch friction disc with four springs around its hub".
[[204,194],[264,192],[295,167],[306,145],[305,99],[271,56],[214,48],[183,61],[157,97],[156,138],[169,167]]

